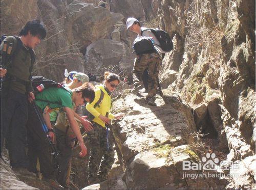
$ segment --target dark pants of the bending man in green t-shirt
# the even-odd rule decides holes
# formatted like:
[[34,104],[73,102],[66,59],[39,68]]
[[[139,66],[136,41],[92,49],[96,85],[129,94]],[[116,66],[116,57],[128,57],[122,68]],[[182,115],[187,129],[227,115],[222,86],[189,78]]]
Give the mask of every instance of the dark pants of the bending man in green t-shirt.
[[[51,150],[46,134],[42,129],[40,120],[35,112],[33,105],[29,103],[28,107],[28,169],[31,172],[37,172],[36,165],[38,158],[40,164],[40,172],[42,173],[42,175],[44,175],[44,177],[46,178],[55,179]],[[39,108],[38,110],[40,111]]]

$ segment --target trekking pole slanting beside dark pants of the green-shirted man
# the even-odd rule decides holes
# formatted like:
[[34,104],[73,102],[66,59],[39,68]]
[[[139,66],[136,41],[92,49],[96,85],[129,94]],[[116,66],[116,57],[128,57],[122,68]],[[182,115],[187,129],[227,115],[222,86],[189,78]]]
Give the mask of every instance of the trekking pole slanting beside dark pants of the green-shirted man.
[[56,147],[54,146],[52,140],[51,140],[51,137],[50,137],[50,134],[49,134],[49,131],[48,131],[48,128],[47,128],[47,125],[46,125],[46,122],[44,120],[44,118],[42,118],[42,115],[41,113],[39,112],[38,110],[38,107],[36,106],[35,102],[33,101],[32,102],[33,106],[34,106],[34,109],[35,109],[35,112],[36,112],[36,115],[37,117],[39,118],[39,121],[41,123],[41,126],[42,126],[42,129],[44,130],[45,134],[46,134],[46,137],[47,137],[47,140],[48,140],[48,143],[51,147],[51,150],[52,150],[52,155],[53,155],[53,159],[55,160],[55,163],[54,164],[54,169],[57,169],[58,170],[58,174],[60,173],[60,168],[59,168],[59,162],[58,162],[58,151],[56,149]]

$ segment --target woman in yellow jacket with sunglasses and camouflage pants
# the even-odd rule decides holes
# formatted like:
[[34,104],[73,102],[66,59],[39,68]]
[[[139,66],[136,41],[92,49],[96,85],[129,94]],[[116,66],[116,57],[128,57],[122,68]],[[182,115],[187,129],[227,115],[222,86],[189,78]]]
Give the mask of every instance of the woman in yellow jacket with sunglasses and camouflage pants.
[[[90,157],[88,162],[88,183],[93,184],[106,179],[113,163],[114,149],[108,125],[111,119],[120,119],[122,115],[109,113],[111,108],[111,93],[120,83],[119,76],[105,72],[102,85],[95,86],[95,98],[86,105],[93,116],[93,130],[88,132]],[[103,94],[102,94],[103,93]],[[103,97],[103,98],[102,98]],[[102,155],[102,156],[101,156]]]

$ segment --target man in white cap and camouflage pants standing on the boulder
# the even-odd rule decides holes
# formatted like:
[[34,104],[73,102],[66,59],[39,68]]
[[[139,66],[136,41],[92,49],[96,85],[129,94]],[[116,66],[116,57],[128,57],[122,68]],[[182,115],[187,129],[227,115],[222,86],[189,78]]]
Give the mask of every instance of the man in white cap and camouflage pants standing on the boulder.
[[[138,36],[141,36],[141,26],[140,22],[135,18],[128,18],[126,21],[127,30],[130,30]],[[154,38],[153,38],[154,39]],[[155,39],[154,39],[155,40]],[[155,51],[151,53],[143,53],[137,55],[134,61],[134,68],[133,68],[133,83],[135,86],[135,92],[138,91],[143,82],[143,74],[144,71],[147,70],[148,78],[148,94],[146,96],[146,102],[148,105],[154,105],[155,103],[155,96],[158,91],[158,73],[160,70],[162,56],[161,56],[161,49],[158,46],[155,46]],[[146,89],[146,87],[145,87]]]

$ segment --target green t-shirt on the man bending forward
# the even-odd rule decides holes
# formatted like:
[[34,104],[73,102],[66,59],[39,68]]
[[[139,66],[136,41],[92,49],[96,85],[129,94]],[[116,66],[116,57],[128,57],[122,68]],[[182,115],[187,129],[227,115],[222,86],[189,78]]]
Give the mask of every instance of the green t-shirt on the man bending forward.
[[46,106],[50,108],[69,107],[73,109],[72,91],[67,88],[50,87],[35,96],[35,103],[44,111]]

